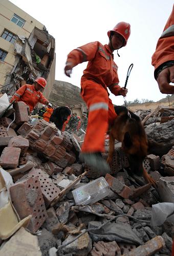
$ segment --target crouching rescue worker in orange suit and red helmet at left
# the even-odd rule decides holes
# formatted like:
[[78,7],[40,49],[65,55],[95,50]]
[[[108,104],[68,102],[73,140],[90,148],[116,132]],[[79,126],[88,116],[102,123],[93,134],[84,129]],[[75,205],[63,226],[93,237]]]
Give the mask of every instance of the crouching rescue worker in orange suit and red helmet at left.
[[34,84],[24,84],[24,86],[21,86],[12,96],[10,102],[12,102],[14,99],[16,102],[23,101],[29,106],[30,112],[34,109],[38,102],[48,104],[48,99],[46,99],[40,92],[41,89],[46,87],[46,84],[47,81],[45,78],[38,77],[35,79]]

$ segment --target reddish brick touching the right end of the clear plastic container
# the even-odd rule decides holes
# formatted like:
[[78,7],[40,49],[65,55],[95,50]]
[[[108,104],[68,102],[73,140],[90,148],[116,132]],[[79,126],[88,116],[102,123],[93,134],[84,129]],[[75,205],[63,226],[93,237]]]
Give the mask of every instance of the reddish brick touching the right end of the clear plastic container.
[[130,194],[132,193],[132,189],[130,189],[128,186],[126,186],[125,184],[123,184],[110,174],[106,174],[105,180],[115,193],[117,193],[119,196],[123,198],[129,198]]

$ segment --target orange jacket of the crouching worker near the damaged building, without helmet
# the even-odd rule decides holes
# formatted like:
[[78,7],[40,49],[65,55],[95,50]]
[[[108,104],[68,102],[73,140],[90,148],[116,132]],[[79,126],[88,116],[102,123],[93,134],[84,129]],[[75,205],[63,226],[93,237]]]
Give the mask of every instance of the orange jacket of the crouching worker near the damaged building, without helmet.
[[13,95],[10,102],[13,100],[25,102],[29,108],[30,112],[34,109],[35,105],[40,102],[46,104],[48,100],[40,91],[36,91],[34,84],[24,84],[21,86]]

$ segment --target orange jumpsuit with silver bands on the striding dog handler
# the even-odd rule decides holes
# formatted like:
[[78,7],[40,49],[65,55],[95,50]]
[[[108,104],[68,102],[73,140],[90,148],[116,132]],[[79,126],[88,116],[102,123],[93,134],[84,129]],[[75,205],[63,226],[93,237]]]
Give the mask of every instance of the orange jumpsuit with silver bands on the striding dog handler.
[[89,62],[81,78],[81,96],[89,108],[89,117],[81,151],[104,152],[108,123],[112,124],[117,117],[107,87],[113,94],[119,95],[118,67],[110,48],[99,41],[71,51],[67,58],[67,62],[72,62],[74,67],[84,61]]

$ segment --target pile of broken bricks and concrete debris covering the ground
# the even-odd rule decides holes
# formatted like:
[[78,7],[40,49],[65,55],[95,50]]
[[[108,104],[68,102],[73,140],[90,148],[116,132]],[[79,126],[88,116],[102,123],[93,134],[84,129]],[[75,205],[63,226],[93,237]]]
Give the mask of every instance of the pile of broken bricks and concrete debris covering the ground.
[[[174,141],[173,122],[156,127],[163,142]],[[146,131],[150,138],[149,125]],[[107,196],[76,205],[72,190],[83,191],[100,176],[80,162],[81,141],[44,120],[31,125],[23,102],[0,118],[0,255],[170,255],[174,147],[162,158],[144,160],[154,188],[129,175],[128,160],[116,142],[111,173],[104,177]],[[108,139],[105,148],[106,158]]]

